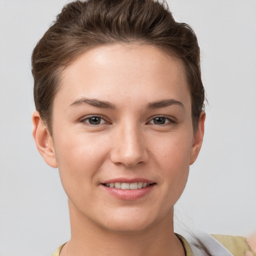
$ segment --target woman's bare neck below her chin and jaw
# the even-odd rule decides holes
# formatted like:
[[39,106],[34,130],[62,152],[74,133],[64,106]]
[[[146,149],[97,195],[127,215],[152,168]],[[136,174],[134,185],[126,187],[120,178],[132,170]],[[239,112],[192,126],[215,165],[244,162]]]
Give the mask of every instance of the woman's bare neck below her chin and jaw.
[[70,207],[71,238],[60,256],[184,256],[173,232],[173,210],[156,224],[139,231],[112,231],[92,222]]

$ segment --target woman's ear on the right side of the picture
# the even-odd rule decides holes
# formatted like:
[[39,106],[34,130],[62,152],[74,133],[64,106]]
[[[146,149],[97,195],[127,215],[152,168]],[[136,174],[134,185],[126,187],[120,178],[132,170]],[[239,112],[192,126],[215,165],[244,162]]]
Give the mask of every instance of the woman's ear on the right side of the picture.
[[202,139],[204,134],[204,121],[205,121],[205,112],[201,111],[199,120],[197,123],[197,128],[194,133],[192,148],[190,151],[190,163],[189,163],[190,165],[196,160],[199,154],[199,151],[201,149]]

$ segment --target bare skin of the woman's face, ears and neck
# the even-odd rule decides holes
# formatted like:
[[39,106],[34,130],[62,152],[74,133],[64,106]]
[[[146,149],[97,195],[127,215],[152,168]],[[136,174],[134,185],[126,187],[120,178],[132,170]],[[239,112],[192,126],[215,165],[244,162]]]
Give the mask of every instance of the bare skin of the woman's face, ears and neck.
[[[60,255],[184,255],[173,205],[199,153],[205,114],[193,132],[183,64],[150,45],[96,47],[62,72],[52,114],[50,136],[34,112],[33,136],[68,196],[71,239]],[[154,185],[125,200],[104,189],[113,178]]]

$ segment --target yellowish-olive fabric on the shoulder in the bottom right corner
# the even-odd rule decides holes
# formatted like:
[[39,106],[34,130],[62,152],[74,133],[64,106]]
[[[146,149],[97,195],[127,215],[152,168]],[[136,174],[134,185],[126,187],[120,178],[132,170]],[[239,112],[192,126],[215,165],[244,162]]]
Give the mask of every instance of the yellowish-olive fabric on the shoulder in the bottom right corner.
[[243,236],[212,234],[212,236],[228,249],[234,256],[244,256],[245,251],[251,251]]

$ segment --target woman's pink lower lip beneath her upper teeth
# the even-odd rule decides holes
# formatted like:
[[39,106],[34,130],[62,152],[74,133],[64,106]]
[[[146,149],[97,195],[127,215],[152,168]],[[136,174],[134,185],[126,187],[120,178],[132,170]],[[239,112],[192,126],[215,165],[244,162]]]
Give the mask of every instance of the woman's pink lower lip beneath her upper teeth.
[[148,194],[155,184],[137,189],[118,189],[114,187],[108,187],[101,184],[101,186],[111,195],[122,200],[136,200]]

